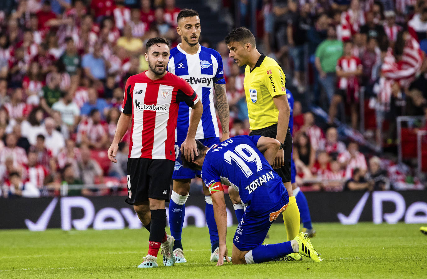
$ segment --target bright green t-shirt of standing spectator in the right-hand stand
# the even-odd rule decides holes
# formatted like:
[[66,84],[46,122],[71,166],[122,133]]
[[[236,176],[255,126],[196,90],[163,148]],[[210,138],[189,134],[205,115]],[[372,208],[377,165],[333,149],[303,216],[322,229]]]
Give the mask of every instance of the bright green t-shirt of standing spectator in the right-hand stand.
[[327,39],[316,49],[316,57],[325,73],[335,73],[336,61],[342,56],[342,41]]

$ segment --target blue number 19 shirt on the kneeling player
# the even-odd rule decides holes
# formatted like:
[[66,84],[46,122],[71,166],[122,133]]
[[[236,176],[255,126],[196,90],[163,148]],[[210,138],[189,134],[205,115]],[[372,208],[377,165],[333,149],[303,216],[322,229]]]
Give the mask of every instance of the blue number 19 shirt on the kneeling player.
[[206,153],[202,180],[206,187],[221,182],[233,187],[245,203],[245,214],[257,216],[275,208],[286,189],[281,177],[258,150],[260,136],[236,136]]

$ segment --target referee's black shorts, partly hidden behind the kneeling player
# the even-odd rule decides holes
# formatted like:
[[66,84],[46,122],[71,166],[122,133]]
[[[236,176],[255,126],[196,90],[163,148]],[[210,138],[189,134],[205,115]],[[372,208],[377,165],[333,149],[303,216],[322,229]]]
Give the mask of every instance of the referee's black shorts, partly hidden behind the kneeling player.
[[[266,128],[262,128],[259,130],[252,130],[251,136],[263,136],[263,137],[272,137],[276,138],[277,135],[277,124],[271,125]],[[282,182],[290,182],[291,181],[291,159],[292,159],[292,136],[291,130],[288,127],[288,131],[286,133],[286,138],[284,142],[284,160],[285,164],[280,169],[275,169],[275,171],[282,178]]]

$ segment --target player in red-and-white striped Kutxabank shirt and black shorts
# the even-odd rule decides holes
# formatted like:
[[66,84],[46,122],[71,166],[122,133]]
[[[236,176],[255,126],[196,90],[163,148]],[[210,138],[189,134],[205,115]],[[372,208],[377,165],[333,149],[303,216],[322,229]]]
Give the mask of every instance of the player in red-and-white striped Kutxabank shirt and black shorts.
[[[181,151],[187,160],[197,156],[196,130],[203,112],[199,96],[184,79],[166,71],[169,43],[152,38],[146,43],[145,59],[149,70],[128,78],[122,114],[117,123],[108,159],[117,163],[118,143],[131,124],[128,159],[128,198],[135,212],[149,230],[149,250],[138,266],[157,267],[162,248],[165,266],[175,264],[174,238],[167,235],[165,201],[169,201],[170,180],[175,165],[175,128],[179,102],[192,108],[187,138]],[[185,152],[184,152],[185,150]],[[151,216],[150,216],[151,213]]]

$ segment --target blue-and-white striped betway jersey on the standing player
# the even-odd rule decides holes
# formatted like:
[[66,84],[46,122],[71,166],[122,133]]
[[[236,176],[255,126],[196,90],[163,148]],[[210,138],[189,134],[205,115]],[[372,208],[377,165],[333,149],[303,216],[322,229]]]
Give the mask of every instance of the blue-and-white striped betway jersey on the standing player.
[[[167,70],[184,78],[202,100],[203,114],[197,127],[196,139],[219,137],[218,121],[213,106],[213,84],[225,84],[221,55],[216,50],[204,46],[199,46],[196,54],[187,54],[178,45],[170,50]],[[190,112],[191,108],[181,102],[175,142],[184,141],[187,136]]]

